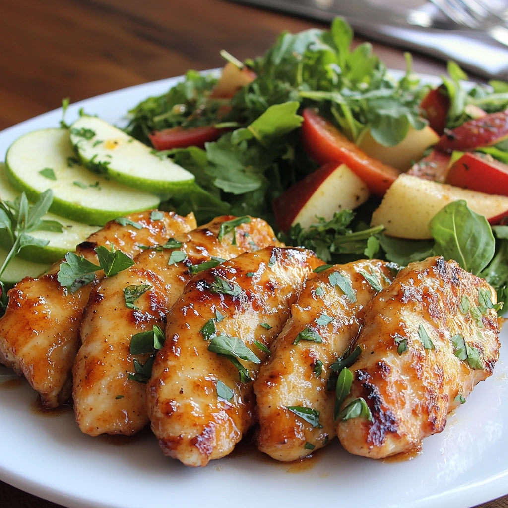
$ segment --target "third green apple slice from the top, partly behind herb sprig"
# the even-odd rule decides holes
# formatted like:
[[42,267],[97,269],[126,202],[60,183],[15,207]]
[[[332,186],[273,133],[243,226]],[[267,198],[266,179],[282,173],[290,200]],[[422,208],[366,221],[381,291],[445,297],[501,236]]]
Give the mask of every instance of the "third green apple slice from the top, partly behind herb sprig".
[[[7,179],[5,164],[0,163],[0,200],[14,201],[18,196],[19,192]],[[63,231],[61,233],[56,231],[32,231],[31,236],[44,238],[49,240],[49,243],[45,247],[34,245],[24,247],[18,254],[18,258],[35,263],[54,263],[65,257],[70,250],[75,250],[78,243],[86,240],[99,229],[97,226],[81,224],[52,213],[46,214],[43,218],[44,220],[56,220],[63,226]]]

